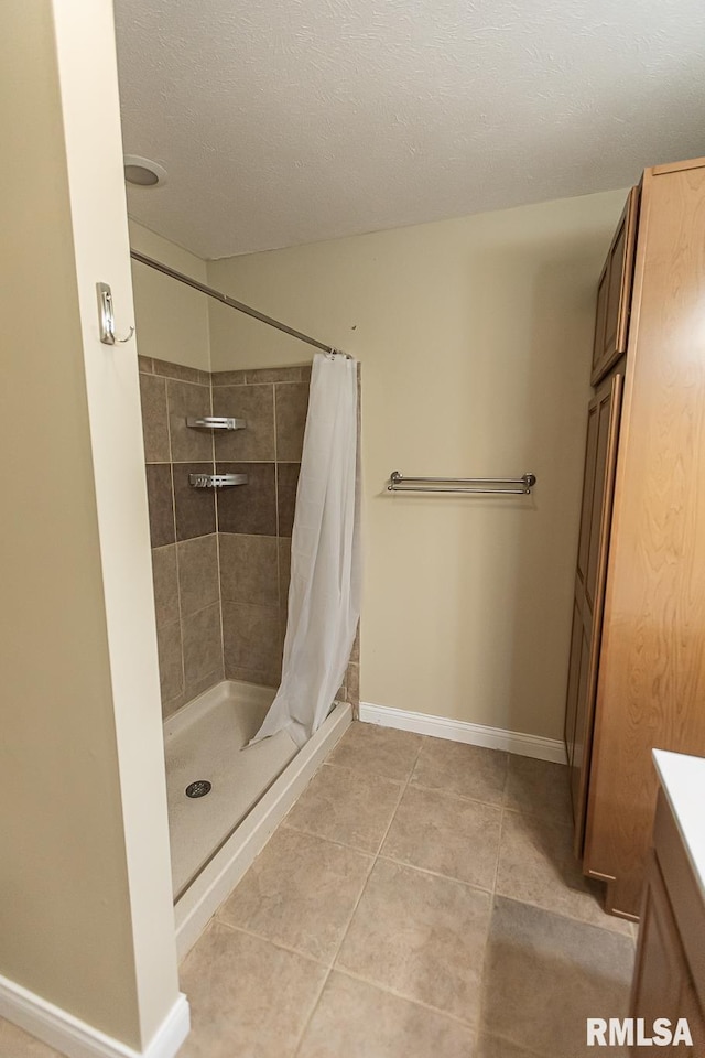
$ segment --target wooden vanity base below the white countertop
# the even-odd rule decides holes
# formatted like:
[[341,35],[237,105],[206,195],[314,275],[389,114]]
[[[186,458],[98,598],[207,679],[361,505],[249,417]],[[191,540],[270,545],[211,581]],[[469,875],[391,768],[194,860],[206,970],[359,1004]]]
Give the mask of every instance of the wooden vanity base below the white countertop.
[[[698,992],[703,993],[705,979],[702,960],[696,956],[695,964],[692,963],[683,933],[691,937],[690,944],[693,935],[698,938],[697,944],[703,943],[705,902],[663,795],[654,845],[646,874],[630,1013],[644,1019],[647,1035],[659,1017],[666,1017],[672,1027],[679,1018],[687,1018],[693,1046],[681,1043],[662,1047],[659,1054],[702,1058],[705,1017]],[[664,873],[662,864],[666,862],[669,870]],[[641,1054],[641,1048],[636,1048],[637,1052]]]

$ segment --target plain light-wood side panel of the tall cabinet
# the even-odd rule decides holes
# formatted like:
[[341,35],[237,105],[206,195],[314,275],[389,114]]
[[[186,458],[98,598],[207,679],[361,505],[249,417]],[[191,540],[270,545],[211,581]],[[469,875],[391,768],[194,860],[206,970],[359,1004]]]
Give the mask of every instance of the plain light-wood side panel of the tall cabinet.
[[651,749],[705,755],[705,169],[647,172],[585,868],[638,915]]

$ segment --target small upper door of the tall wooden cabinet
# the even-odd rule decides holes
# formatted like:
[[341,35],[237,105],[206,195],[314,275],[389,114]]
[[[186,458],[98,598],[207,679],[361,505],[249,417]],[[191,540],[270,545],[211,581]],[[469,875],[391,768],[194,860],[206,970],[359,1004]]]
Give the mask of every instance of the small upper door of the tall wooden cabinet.
[[627,352],[638,214],[639,188],[632,187],[597,288],[593,386],[597,386]]

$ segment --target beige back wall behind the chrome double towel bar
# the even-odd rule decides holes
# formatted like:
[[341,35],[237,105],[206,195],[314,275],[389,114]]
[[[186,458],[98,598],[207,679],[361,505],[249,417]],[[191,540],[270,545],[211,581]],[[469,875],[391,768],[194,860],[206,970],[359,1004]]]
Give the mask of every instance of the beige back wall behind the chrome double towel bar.
[[[362,361],[362,701],[562,737],[595,288],[625,194],[208,264]],[[310,358],[209,311],[214,370]],[[393,469],[539,484],[391,496]]]

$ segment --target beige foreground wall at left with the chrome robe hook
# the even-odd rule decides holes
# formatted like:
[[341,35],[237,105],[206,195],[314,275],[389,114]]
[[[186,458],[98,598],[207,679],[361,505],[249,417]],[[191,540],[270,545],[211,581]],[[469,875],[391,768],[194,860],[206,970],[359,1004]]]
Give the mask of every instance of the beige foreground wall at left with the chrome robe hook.
[[141,1052],[178,982],[109,0],[2,4],[0,130],[0,974]]

